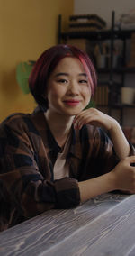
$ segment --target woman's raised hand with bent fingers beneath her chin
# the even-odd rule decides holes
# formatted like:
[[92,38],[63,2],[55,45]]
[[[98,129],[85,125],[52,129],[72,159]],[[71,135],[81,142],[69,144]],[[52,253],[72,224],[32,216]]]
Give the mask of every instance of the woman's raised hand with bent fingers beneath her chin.
[[92,124],[96,127],[103,127],[106,130],[112,130],[115,125],[118,125],[117,121],[108,114],[104,114],[96,108],[89,108],[76,114],[73,121],[75,129],[81,129],[85,124]]

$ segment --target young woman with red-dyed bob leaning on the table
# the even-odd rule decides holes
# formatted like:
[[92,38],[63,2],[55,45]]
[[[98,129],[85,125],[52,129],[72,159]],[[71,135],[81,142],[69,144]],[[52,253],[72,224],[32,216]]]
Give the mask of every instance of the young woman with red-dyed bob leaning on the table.
[[135,193],[135,151],[119,123],[85,110],[96,86],[88,56],[54,46],[35,63],[29,84],[38,108],[0,126],[1,230],[112,190]]

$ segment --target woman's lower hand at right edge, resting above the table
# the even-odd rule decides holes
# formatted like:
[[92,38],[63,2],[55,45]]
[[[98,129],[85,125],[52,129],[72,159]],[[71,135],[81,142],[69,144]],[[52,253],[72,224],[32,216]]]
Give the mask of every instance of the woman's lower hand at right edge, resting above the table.
[[112,170],[116,189],[135,193],[135,156],[121,160]]

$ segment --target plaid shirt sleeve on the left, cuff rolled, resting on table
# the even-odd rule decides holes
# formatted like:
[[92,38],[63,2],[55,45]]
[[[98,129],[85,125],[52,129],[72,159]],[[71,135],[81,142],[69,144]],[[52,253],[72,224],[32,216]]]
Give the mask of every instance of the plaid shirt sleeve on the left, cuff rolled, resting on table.
[[4,123],[0,129],[0,141],[0,180],[22,215],[31,217],[52,208],[79,204],[75,178],[52,182],[40,173],[31,137],[23,128],[22,120],[16,126]]

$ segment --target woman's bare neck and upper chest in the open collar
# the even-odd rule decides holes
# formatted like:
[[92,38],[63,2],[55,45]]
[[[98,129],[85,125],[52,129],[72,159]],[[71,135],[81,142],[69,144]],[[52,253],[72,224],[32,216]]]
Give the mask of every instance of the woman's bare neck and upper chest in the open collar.
[[61,114],[45,113],[46,120],[49,124],[49,129],[60,147],[63,147],[67,141],[67,136],[70,133],[74,116],[64,116]]

